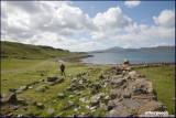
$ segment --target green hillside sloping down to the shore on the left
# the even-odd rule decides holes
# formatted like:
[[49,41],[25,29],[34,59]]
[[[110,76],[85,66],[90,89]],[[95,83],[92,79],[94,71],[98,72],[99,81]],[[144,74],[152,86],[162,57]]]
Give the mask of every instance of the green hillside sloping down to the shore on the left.
[[78,56],[78,53],[72,53],[62,49],[54,49],[51,46],[22,44],[15,42],[1,41],[1,57],[13,58],[52,58]]

